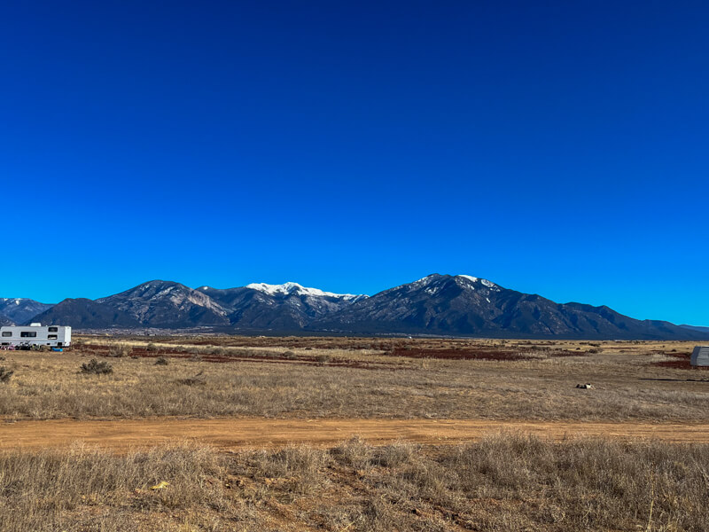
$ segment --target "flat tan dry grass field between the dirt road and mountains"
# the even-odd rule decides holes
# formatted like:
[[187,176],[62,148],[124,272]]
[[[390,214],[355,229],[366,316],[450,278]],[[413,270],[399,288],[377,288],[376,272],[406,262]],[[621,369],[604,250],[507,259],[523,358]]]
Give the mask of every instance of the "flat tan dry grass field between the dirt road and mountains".
[[[173,340],[176,344],[179,339]],[[494,344],[491,340],[465,340],[461,347],[453,340],[436,340],[438,344],[434,340],[408,341],[409,348],[504,346],[520,350],[529,359],[439,360],[387,356],[370,350],[370,344],[364,349],[289,345],[261,346],[259,353],[270,354],[261,358],[248,355],[251,351],[243,356],[219,355],[220,360],[229,362],[214,364],[209,362],[211,350],[253,348],[202,345],[192,346],[197,351],[185,354],[158,342],[150,351],[133,346],[134,356],[143,353],[149,358],[110,358],[112,375],[82,375],[78,373],[80,364],[111,352],[107,345],[91,339],[64,354],[6,353],[4,364],[15,374],[0,387],[0,416],[709,419],[705,408],[709,383],[700,380],[709,372],[651,365],[689,352],[690,344],[606,342],[591,346],[588,342],[498,340]],[[589,353],[590,349],[599,352]],[[557,356],[576,351],[579,356]],[[278,354],[284,357],[275,359]],[[159,356],[166,356],[170,364],[156,365]],[[199,372],[200,386],[185,384]],[[591,382],[596,389],[578,390],[575,385],[580,382]]]

